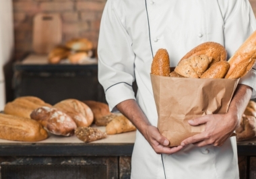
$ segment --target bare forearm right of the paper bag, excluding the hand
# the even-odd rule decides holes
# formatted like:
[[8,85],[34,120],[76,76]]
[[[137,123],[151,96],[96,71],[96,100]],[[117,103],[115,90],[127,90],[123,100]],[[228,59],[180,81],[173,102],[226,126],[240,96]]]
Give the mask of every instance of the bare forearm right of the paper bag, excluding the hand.
[[234,97],[230,102],[230,107],[228,109],[228,114],[234,116],[237,120],[236,127],[241,122],[241,117],[243,112],[245,112],[245,108],[251,98],[252,88],[248,85],[238,84],[236,87],[236,92],[234,93]]

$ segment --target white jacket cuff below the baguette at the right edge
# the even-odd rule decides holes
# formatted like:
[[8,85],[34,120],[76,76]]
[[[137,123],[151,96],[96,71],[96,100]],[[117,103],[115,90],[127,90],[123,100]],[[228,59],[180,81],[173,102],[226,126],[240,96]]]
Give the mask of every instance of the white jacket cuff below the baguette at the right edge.
[[256,70],[251,69],[245,77],[242,77],[239,80],[239,84],[248,85],[253,88],[253,94],[251,95],[251,99],[256,98]]

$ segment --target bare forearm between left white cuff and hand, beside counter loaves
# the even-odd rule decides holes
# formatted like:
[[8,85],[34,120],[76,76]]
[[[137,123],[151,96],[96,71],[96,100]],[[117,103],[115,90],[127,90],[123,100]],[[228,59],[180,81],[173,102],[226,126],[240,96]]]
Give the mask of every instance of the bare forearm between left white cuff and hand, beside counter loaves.
[[135,100],[125,100],[117,104],[116,107],[122,114],[129,118],[131,122],[133,122],[140,133],[145,134],[146,127],[151,124]]

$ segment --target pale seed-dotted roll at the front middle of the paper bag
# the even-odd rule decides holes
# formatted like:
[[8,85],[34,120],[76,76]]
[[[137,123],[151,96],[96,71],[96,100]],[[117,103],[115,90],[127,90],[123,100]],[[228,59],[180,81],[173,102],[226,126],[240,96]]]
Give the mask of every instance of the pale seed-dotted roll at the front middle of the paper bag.
[[198,55],[180,61],[174,69],[176,73],[183,77],[199,78],[212,62],[212,57]]

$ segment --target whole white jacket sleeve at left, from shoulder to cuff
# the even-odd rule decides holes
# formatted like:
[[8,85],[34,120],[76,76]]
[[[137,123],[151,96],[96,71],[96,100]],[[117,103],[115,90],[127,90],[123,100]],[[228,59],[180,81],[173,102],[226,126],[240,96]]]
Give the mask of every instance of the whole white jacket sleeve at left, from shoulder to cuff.
[[104,87],[110,111],[124,100],[135,100],[132,88],[135,55],[122,11],[125,10],[121,1],[108,0],[100,24],[98,80]]

